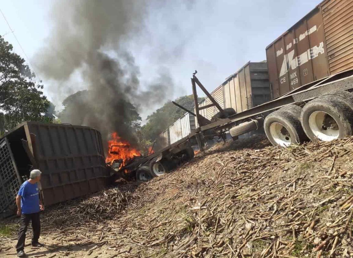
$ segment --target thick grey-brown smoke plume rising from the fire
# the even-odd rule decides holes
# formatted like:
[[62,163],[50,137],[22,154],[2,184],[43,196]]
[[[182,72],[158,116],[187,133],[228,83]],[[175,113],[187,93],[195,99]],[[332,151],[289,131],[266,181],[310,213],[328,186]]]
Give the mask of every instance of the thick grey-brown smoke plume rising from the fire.
[[[140,33],[148,16],[150,1],[66,0],[58,1],[53,11],[53,29],[46,47],[38,53],[41,75],[56,81],[58,92],[67,92],[72,76],[80,76],[89,95],[83,107],[68,118],[72,124],[101,131],[103,139],[116,131],[136,146],[128,119],[126,102],[140,108],[166,100],[173,90],[166,72],[156,83],[140,87],[139,68],[129,44]],[[153,77],[153,76],[152,76]],[[72,91],[77,89],[71,86]],[[80,119],[78,119],[78,116]]]

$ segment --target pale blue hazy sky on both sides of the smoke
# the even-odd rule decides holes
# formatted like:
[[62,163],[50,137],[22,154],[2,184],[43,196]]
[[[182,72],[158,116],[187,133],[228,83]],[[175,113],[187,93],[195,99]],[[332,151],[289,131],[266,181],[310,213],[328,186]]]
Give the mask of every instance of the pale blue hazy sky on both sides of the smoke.
[[[267,45],[320,1],[160,2],[146,15],[146,27],[131,39],[129,50],[139,66],[142,85],[151,82],[161,67],[169,70],[176,86],[169,99],[174,99],[191,94],[190,78],[195,69],[201,82],[212,91],[247,61],[265,60]],[[55,91],[36,66],[36,56],[43,49],[52,29],[52,7],[53,1],[48,0],[0,0],[1,11],[27,57],[2,15],[0,34],[13,45],[16,53],[30,63],[37,78],[43,80],[44,93],[60,106],[64,96],[73,92]],[[79,85],[77,89],[84,87]],[[160,105],[166,100],[161,99]],[[141,113],[144,118],[148,115]]]

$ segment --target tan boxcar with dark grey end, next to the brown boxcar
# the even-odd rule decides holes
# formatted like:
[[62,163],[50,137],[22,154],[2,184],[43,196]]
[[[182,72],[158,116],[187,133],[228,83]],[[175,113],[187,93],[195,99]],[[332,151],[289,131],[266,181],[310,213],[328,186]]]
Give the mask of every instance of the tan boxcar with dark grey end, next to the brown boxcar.
[[[233,108],[237,113],[260,105],[271,99],[266,62],[248,62],[217,87],[211,96],[222,109]],[[209,105],[206,97],[199,107]],[[211,119],[219,110],[212,106],[200,110],[202,116]]]

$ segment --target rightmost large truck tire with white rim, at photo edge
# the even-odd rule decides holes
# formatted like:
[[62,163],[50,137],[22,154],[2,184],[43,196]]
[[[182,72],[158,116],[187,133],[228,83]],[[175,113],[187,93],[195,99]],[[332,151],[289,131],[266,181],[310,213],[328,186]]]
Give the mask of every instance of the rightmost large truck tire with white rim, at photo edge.
[[353,111],[347,100],[327,94],[305,104],[301,124],[312,141],[332,141],[353,133]]

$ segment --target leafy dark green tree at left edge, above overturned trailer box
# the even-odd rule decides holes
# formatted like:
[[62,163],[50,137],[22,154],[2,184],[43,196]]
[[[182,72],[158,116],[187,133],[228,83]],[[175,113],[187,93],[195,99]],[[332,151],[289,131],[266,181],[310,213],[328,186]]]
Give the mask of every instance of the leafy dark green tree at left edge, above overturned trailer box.
[[[49,101],[41,81],[0,36],[0,128],[2,133],[24,121],[48,121]],[[50,120],[50,119],[49,119]],[[50,122],[50,121],[49,121]]]

